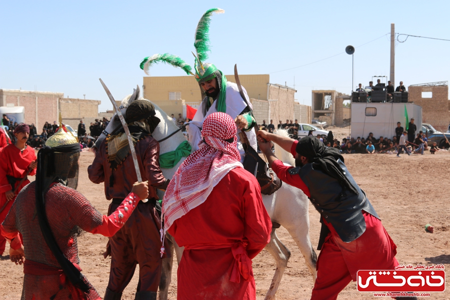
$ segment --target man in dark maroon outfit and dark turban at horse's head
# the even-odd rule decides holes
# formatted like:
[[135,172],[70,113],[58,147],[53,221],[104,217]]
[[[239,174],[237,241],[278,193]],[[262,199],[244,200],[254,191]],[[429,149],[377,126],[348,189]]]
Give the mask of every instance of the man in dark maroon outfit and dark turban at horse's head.
[[[156,300],[162,269],[159,254],[161,221],[155,209],[156,187],[165,189],[167,181],[159,168],[159,144],[151,136],[159,123],[154,106],[148,100],[134,100],[126,109],[125,119],[131,132],[142,180],[148,180],[148,202],[139,202],[123,228],[109,238],[106,254],[111,254],[109,282],[105,300],[120,299],[139,264],[139,283],[135,299]],[[104,182],[106,199],[112,199],[108,214],[126,197],[128,188],[137,181],[132,156],[123,128],[108,135],[98,147],[87,168],[89,179]]]

